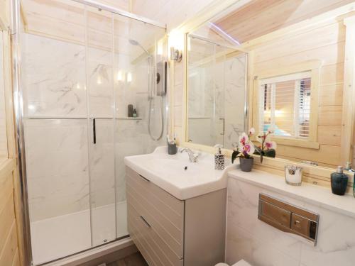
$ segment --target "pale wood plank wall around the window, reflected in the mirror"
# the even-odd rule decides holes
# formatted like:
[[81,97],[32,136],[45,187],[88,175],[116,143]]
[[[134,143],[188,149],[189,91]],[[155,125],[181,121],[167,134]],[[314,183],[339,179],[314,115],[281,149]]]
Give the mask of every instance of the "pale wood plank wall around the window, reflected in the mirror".
[[319,87],[318,136],[320,149],[278,145],[278,157],[310,160],[320,165],[339,165],[344,80],[345,26],[340,21],[322,23],[310,30],[277,38],[259,45],[254,52],[253,68],[289,67],[309,60],[322,60]]

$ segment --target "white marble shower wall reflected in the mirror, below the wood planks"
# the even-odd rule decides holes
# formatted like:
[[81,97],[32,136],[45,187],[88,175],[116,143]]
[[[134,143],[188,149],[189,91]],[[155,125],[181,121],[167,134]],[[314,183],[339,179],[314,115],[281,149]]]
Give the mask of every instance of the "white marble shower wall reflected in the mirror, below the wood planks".
[[245,86],[245,55],[189,68],[189,139],[231,149],[244,132]]

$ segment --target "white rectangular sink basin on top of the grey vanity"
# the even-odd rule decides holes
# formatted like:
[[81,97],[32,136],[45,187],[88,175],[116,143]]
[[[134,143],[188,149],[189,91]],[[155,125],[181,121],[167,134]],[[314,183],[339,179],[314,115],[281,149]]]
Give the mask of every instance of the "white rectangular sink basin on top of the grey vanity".
[[124,158],[128,167],[178,199],[190,199],[226,188],[227,172],[235,169],[226,158],[226,169],[214,170],[214,155],[200,153],[198,162],[190,162],[187,153],[168,155],[167,147],[153,153]]

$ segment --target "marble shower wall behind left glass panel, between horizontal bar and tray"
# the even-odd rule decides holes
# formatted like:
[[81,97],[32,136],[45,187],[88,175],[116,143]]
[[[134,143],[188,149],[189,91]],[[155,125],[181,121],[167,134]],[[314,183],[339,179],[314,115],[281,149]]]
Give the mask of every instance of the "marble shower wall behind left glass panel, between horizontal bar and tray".
[[87,121],[28,119],[24,131],[31,221],[88,209]]

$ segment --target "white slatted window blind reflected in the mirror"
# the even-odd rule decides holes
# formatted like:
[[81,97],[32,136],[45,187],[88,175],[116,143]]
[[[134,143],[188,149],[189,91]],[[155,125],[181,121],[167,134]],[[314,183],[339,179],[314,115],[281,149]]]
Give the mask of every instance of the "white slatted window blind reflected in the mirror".
[[260,80],[260,128],[274,135],[308,138],[310,135],[311,72]]

